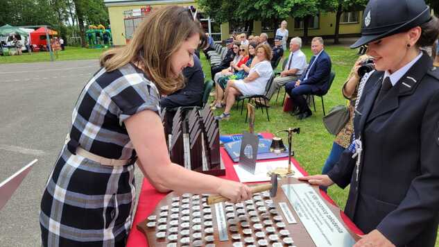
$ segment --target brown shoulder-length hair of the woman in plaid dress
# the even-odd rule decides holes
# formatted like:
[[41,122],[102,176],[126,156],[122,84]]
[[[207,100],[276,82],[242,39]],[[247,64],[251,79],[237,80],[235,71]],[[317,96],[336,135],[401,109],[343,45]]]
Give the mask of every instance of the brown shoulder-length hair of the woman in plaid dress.
[[200,35],[200,46],[206,45],[200,23],[187,8],[160,8],[141,22],[126,46],[103,53],[100,63],[107,71],[113,71],[129,62],[140,62],[159,92],[170,94],[184,86],[182,74],[173,76],[171,57],[192,35]]

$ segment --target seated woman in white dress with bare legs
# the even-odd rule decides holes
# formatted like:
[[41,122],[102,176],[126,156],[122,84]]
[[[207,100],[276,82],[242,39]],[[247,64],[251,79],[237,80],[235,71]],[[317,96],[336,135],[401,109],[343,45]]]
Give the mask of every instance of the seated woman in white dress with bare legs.
[[230,117],[230,109],[234,104],[236,96],[264,94],[266,84],[273,75],[270,64],[271,48],[268,44],[259,44],[256,47],[256,58],[259,62],[249,71],[248,76],[243,80],[229,80],[225,88],[225,110],[223,114],[215,119],[222,120]]

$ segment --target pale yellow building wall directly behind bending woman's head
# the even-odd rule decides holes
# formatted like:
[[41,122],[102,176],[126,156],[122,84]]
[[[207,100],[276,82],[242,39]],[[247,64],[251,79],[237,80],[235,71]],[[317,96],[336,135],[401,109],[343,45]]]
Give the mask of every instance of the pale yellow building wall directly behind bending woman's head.
[[[116,46],[126,44],[125,38],[125,24],[123,22],[123,12],[138,8],[143,8],[146,6],[151,6],[154,8],[161,6],[168,6],[169,4],[147,4],[147,5],[127,5],[127,6],[108,6],[108,17],[110,17],[111,33],[113,38],[113,44]],[[173,3],[172,5],[178,6],[195,6],[196,3],[193,1],[188,1],[187,3]]]

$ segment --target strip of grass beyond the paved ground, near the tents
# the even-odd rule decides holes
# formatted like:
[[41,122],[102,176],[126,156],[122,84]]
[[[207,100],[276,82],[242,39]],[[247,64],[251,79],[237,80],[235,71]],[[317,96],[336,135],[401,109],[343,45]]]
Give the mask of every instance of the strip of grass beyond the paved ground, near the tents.
[[[58,51],[58,58],[53,54],[55,61],[61,60],[83,60],[97,59],[103,51],[107,49],[87,49],[75,46],[66,46],[64,51]],[[23,53],[21,56],[0,56],[0,64],[17,62],[49,62],[51,60],[49,52],[41,51],[32,54]]]

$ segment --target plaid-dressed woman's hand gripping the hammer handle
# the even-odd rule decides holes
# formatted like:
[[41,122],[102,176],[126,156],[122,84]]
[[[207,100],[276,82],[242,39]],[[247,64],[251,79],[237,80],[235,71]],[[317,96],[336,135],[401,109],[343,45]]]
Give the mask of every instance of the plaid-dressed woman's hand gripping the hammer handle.
[[225,179],[221,180],[217,193],[228,198],[231,203],[246,201],[252,196],[252,191],[247,185]]

